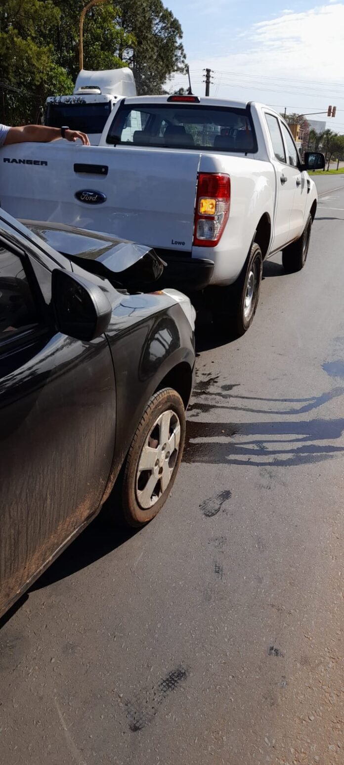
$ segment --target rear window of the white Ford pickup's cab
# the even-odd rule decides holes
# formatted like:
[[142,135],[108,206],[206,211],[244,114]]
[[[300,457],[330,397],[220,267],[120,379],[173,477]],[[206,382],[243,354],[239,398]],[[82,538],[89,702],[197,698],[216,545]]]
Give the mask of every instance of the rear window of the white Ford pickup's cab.
[[197,151],[257,151],[248,109],[164,103],[120,106],[108,144],[185,148]]

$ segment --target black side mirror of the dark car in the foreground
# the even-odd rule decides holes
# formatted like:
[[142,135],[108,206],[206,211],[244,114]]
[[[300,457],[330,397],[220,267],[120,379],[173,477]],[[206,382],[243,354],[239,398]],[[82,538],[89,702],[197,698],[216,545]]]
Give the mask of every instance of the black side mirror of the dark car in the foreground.
[[52,272],[51,304],[57,330],[76,340],[95,340],[109,327],[112,307],[105,293],[69,271]]

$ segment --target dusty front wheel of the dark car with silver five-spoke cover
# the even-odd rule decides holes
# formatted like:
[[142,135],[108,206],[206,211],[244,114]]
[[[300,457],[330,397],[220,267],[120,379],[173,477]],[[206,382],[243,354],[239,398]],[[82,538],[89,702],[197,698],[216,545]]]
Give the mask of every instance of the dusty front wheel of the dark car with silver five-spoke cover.
[[185,429],[185,409],[177,391],[164,388],[155,393],[125,461],[122,510],[129,526],[144,526],[164,506],[183,456]]

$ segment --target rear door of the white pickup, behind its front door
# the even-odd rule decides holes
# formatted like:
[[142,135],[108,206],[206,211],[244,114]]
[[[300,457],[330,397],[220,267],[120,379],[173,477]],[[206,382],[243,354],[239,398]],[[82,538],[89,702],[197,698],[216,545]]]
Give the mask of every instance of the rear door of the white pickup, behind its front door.
[[265,112],[273,154],[271,162],[276,171],[276,200],[274,210],[274,241],[272,250],[282,249],[291,239],[290,216],[294,209],[295,168],[287,162],[287,152],[281,133],[281,122],[276,115]]

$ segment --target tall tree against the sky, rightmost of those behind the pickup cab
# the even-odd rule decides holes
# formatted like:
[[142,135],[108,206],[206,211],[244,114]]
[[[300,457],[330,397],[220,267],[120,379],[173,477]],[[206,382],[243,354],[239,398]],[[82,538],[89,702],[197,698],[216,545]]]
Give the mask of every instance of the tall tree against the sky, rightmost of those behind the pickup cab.
[[177,18],[161,0],[118,0],[122,28],[135,40],[123,46],[120,58],[133,70],[138,93],[162,93],[173,72],[185,69]]

